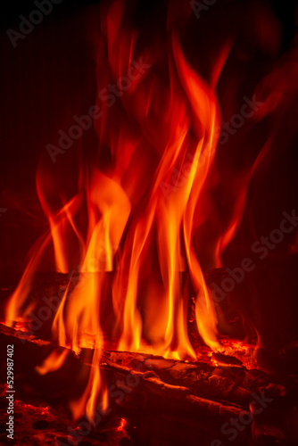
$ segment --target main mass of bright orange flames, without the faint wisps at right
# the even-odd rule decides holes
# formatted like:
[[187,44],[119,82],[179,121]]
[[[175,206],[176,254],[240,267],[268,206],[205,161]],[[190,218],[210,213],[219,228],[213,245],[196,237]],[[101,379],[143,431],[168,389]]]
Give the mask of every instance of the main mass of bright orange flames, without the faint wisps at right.
[[[219,348],[216,316],[210,305],[192,239],[195,209],[203,194],[217,144],[214,128],[219,122],[219,105],[214,88],[228,51],[226,48],[220,56],[214,68],[212,87],[209,87],[186,62],[178,37],[173,33],[168,64],[170,88],[161,91],[160,80],[154,73],[151,74],[151,55],[144,53],[138,59],[149,67],[145,73],[141,62],[136,63],[137,57],[133,58],[137,34],[133,32],[128,37],[123,24],[124,5],[123,1],[115,2],[109,9],[104,32],[112,75],[121,77],[132,65],[135,68],[128,95],[123,94],[120,99],[126,113],[120,115],[117,137],[109,130],[113,113],[107,108],[102,122],[95,127],[100,141],[99,153],[109,141],[113,169],[106,172],[95,168],[82,169],[79,182],[84,191],[69,200],[59,190],[57,193],[49,174],[45,175],[43,169],[37,172],[37,194],[49,225],[45,243],[53,243],[55,269],[64,273],[71,269],[71,236],[79,249],[81,276],[71,293],[69,284],[62,297],[53,322],[54,339],[59,345],[77,353],[82,348],[95,350],[86,392],[79,403],[72,404],[75,417],[79,417],[84,406],[89,413],[92,412],[96,389],[99,392],[102,385],[98,368],[103,348],[100,312],[107,272],[115,272],[112,301],[115,329],[121,332],[120,350],[153,351],[168,358],[196,359],[187,332],[187,298],[181,297],[181,275],[186,268],[189,268],[197,292],[199,332],[205,343]],[[120,48],[119,52],[115,51],[116,47]],[[139,72],[136,74],[137,70]],[[104,72],[98,75],[100,90],[107,76]],[[128,102],[129,96],[131,99]],[[161,123],[158,123],[155,116],[160,114],[161,103],[164,111]],[[137,121],[140,128],[137,132],[129,126],[129,115]],[[199,142],[190,136],[192,128]],[[140,176],[131,173],[135,157],[139,157],[141,151],[153,151],[160,155],[159,161],[156,158],[155,171],[152,169],[153,182],[152,178],[145,177],[145,163],[140,165]],[[192,161],[189,163],[190,153]],[[186,174],[188,164],[190,167]],[[171,185],[173,172],[178,177],[175,186]],[[179,178],[182,178],[180,184]],[[140,188],[142,180],[144,186]],[[165,193],[165,185],[170,185],[169,195]],[[78,224],[78,213],[84,202],[87,207],[85,234]],[[132,210],[134,212],[130,215]],[[127,235],[120,252],[120,240],[125,231]],[[116,252],[120,253],[117,265]],[[30,288],[29,277],[37,270],[34,259],[43,255],[45,250],[39,248],[36,257],[30,261],[10,301],[7,311],[9,320],[16,320],[16,314],[25,303]],[[147,268],[148,261],[152,263],[154,273],[149,285],[150,295],[146,296],[145,303],[142,298],[140,300],[139,293],[142,271]],[[153,265],[153,262],[156,263]],[[155,316],[156,324],[150,327],[154,312],[150,301],[153,300],[155,306],[159,301],[162,312],[159,318]],[[147,317],[142,305],[147,307]],[[39,373],[59,368],[64,359],[64,355],[51,355],[38,368]]]

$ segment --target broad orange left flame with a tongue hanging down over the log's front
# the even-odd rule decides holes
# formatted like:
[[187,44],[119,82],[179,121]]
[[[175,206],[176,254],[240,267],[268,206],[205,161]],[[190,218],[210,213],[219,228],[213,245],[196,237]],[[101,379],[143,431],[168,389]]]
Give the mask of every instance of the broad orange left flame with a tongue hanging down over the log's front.
[[[100,303],[104,276],[98,270],[112,270],[115,253],[112,246],[120,244],[130,212],[130,203],[121,187],[101,172],[95,171],[89,191],[89,227],[86,256],[80,268],[82,276],[69,301],[69,290],[65,291],[53,324],[54,335],[61,345],[78,353],[82,348],[94,349],[87,388],[80,400],[70,405],[75,419],[83,415],[84,410],[92,419],[99,392],[103,394],[103,409],[107,408],[107,391],[99,369],[103,348]],[[98,220],[96,213],[101,216]],[[105,247],[104,257],[98,254],[102,244]]]

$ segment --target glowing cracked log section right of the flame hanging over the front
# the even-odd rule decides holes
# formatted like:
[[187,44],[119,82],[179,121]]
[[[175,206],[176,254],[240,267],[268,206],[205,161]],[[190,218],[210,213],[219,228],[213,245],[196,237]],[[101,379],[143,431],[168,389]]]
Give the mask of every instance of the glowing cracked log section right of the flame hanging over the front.
[[214,367],[203,362],[188,363],[119,351],[105,351],[103,358],[110,367],[130,372],[142,364],[142,370],[151,370],[144,372],[146,381],[158,379],[172,386],[178,384],[199,398],[241,408],[248,407],[253,392],[267,389],[268,394],[278,396],[285,394],[286,388],[290,391],[295,387],[294,381],[288,378],[244,367]]

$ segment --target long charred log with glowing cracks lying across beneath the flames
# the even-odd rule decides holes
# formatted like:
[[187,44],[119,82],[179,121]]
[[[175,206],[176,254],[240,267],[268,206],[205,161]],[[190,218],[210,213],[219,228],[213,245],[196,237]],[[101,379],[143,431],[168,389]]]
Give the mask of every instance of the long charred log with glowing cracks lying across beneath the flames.
[[[2,350],[7,343],[14,344],[16,374],[29,375],[29,381],[36,384],[38,375],[35,368],[50,352],[63,351],[62,347],[7,326],[0,326],[0,339]],[[92,352],[87,350],[79,356],[69,351],[64,366],[54,374],[59,376],[62,383],[80,368],[87,374],[91,356]],[[173,401],[187,401],[189,407],[208,409],[219,415],[236,414],[247,409],[253,392],[266,390],[269,397],[276,398],[288,392],[296,394],[298,390],[294,377],[269,376],[260,370],[247,370],[244,367],[215,367],[203,362],[190,363],[133,352],[103,351],[99,367],[104,370],[110,384],[120,384],[124,391],[130,387],[127,394],[144,394],[146,399],[148,395],[153,398],[155,394]],[[46,376],[39,379],[43,381]],[[57,383],[55,386],[57,394],[59,386]],[[121,402],[118,401],[119,404]],[[143,402],[150,404],[150,401]]]

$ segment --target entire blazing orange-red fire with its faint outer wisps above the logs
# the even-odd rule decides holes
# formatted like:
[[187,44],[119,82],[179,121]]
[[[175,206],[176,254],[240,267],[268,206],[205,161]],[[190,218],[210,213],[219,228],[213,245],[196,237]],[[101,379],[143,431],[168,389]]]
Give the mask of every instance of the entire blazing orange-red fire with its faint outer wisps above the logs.
[[[120,351],[195,360],[187,324],[192,297],[203,342],[212,351],[225,351],[203,275],[202,246],[195,239],[203,227],[215,227],[210,257],[212,267],[221,266],[222,253],[241,223],[252,176],[271,144],[237,178],[228,217],[221,221],[208,197],[219,184],[216,87],[232,44],[223,45],[207,80],[189,62],[175,29],[166,45],[141,51],[139,31],[127,22],[125,8],[120,0],[103,10],[97,150],[88,160],[81,154],[73,194],[57,186],[51,169],[40,162],[37,194],[48,230],[37,240],[6,310],[7,325],[26,321],[34,306],[31,284],[51,252],[54,270],[70,275],[53,321],[54,341],[66,350],[50,355],[37,371],[43,375],[62,367],[68,349],[93,351],[86,390],[70,403],[77,419],[84,412],[92,419],[98,401],[108,407],[100,368],[106,301],[114,313],[113,333],[107,335],[119,339]],[[79,280],[72,287],[74,270]],[[124,425],[121,420],[119,430]]]

